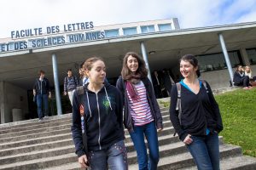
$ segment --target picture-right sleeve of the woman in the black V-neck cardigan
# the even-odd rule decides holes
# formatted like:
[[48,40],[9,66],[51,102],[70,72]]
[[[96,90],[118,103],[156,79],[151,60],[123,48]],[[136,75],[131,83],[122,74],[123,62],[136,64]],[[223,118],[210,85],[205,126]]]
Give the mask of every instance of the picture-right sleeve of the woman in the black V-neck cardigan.
[[207,82],[207,88],[208,88],[208,96],[209,96],[209,99],[210,99],[210,102],[212,104],[212,110],[214,112],[214,116],[215,116],[215,119],[217,121],[217,129],[215,129],[218,133],[220,131],[223,130],[223,124],[222,124],[222,118],[221,118],[221,115],[220,115],[220,111],[219,111],[219,108],[218,108],[218,103],[216,102],[213,94],[212,94],[212,89],[210,87],[210,85],[208,84]]

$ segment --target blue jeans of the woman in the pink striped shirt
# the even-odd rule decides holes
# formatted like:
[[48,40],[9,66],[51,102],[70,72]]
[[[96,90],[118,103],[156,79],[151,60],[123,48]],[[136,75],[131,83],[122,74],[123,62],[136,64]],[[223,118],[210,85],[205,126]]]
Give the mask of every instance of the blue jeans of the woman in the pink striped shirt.
[[[137,162],[140,170],[155,170],[159,161],[159,145],[154,122],[143,126],[135,126],[130,133],[134,147],[137,151]],[[144,134],[148,141],[149,161]]]

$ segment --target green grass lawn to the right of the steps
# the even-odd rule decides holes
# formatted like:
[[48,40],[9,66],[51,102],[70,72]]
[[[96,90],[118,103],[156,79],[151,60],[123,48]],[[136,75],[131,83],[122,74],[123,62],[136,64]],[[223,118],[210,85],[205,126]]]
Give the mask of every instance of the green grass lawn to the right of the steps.
[[215,96],[221,111],[224,143],[240,145],[243,154],[256,157],[256,88]]

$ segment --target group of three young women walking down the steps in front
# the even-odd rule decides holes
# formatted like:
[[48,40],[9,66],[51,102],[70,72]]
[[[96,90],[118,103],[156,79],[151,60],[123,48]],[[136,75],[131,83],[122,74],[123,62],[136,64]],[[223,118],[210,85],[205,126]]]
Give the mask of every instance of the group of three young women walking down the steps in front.
[[[138,168],[157,169],[157,133],[163,129],[163,121],[144,60],[134,52],[125,54],[116,87],[106,81],[106,65],[101,58],[86,59],[82,69],[90,81],[73,92],[72,125],[81,167],[128,169],[125,127],[137,151]],[[218,133],[223,125],[218,104],[209,84],[198,79],[194,55],[181,58],[180,72],[180,88],[177,85],[171,90],[173,127],[199,169],[219,169]]]

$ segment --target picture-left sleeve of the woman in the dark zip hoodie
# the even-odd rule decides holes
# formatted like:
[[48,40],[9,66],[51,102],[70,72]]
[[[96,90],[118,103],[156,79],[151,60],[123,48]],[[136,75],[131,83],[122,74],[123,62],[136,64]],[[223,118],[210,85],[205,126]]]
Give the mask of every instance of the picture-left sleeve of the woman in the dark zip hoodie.
[[71,127],[71,131],[76,154],[79,157],[85,155],[82,138],[81,116],[79,112],[79,96],[77,94],[77,91],[75,91],[73,94],[73,124]]

